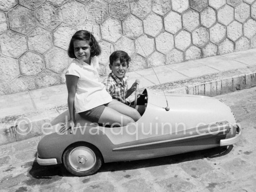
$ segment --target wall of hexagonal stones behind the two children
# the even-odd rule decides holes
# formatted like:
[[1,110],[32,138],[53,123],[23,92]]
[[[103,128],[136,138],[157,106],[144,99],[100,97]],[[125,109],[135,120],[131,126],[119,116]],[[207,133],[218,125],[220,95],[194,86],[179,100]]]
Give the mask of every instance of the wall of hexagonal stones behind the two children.
[[256,0],[0,0],[0,95],[65,83],[79,29],[140,70],[256,47]]

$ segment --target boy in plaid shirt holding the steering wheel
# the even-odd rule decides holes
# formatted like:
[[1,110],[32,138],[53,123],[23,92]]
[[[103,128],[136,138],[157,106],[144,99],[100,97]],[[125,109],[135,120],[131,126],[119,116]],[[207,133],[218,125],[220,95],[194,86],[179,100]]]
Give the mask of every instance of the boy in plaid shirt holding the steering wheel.
[[125,101],[135,90],[137,84],[140,83],[139,79],[136,79],[135,83],[128,89],[127,80],[125,76],[129,61],[131,58],[124,51],[115,51],[109,56],[109,73],[108,78],[102,83],[105,85],[107,92],[116,99],[126,105],[130,105],[128,101]]

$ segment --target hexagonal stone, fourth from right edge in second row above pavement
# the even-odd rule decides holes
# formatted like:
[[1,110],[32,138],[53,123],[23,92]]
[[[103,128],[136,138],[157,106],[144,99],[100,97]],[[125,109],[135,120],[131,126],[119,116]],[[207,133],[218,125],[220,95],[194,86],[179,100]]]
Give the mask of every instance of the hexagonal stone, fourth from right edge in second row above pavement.
[[199,47],[205,46],[209,42],[209,31],[206,27],[200,26],[192,33],[193,44]]

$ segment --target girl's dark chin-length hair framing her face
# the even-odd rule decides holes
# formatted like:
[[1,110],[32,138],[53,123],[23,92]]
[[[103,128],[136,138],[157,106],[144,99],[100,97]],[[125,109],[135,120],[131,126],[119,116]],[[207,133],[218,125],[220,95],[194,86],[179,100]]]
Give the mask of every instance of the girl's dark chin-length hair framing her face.
[[74,55],[74,40],[89,41],[89,46],[91,47],[90,49],[91,57],[98,56],[99,54],[101,54],[101,47],[99,46],[98,42],[94,38],[94,35],[86,30],[80,30],[75,32],[70,40],[69,47],[67,50],[68,56],[70,58],[76,58]]

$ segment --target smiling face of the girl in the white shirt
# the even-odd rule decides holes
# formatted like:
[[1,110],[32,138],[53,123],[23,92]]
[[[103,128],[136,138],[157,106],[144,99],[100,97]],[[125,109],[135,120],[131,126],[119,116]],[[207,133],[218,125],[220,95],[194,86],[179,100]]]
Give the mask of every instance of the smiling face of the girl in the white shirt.
[[87,40],[74,40],[74,55],[77,59],[82,60],[90,65],[90,45]]

